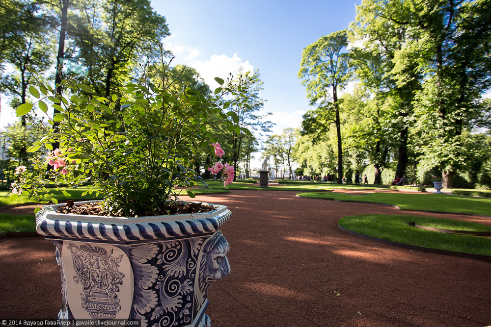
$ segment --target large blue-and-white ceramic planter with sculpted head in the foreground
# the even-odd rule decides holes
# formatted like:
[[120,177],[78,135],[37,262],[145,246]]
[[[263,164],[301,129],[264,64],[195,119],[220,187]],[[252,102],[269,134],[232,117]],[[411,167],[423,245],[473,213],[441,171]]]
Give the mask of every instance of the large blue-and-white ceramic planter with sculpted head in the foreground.
[[[87,201],[90,202],[90,201]],[[84,202],[77,202],[81,204]],[[56,246],[60,319],[140,319],[143,327],[208,327],[210,283],[228,276],[224,205],[200,214],[105,217],[36,215]]]

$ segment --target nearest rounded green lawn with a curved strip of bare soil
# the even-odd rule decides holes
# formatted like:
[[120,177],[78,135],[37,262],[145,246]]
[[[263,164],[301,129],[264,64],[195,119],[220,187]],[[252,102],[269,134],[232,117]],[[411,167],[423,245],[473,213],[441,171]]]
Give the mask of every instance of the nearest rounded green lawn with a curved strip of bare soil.
[[472,231],[491,231],[491,226],[462,221],[409,215],[358,215],[343,217],[339,225],[357,233],[425,248],[491,255],[491,238],[447,234],[408,226],[418,225]]

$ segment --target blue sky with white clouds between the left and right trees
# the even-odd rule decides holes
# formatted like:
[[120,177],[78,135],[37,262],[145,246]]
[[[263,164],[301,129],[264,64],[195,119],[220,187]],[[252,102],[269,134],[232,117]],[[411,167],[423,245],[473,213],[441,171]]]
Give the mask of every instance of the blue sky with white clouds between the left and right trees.
[[[195,68],[212,89],[213,77],[259,69],[264,82],[263,112],[276,123],[273,132],[299,127],[309,109],[298,78],[302,50],[323,35],[355,20],[355,1],[202,1],[153,0],[171,35],[164,39],[173,63]],[[360,1],[357,1],[359,4]]]

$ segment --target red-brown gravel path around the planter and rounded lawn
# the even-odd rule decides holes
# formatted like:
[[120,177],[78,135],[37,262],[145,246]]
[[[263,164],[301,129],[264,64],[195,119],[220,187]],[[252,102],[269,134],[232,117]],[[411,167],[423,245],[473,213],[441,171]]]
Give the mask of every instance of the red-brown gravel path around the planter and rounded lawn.
[[[491,325],[490,262],[410,252],[337,227],[352,214],[421,212],[288,191],[231,191],[197,200],[233,212],[222,228],[232,272],[208,292],[213,327]],[[436,216],[491,225],[482,217]],[[0,240],[0,263],[0,318],[56,317],[60,277],[50,241]]]

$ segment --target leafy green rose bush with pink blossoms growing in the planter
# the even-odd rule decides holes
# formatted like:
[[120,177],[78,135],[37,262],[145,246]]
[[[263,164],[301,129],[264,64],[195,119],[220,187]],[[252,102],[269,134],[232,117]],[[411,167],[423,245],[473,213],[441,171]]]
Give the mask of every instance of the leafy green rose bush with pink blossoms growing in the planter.
[[[49,122],[57,127],[33,122],[46,136],[27,151],[45,147],[49,154],[32,169],[19,167],[13,197],[22,189],[42,203],[56,203],[48,186],[59,190],[62,185],[75,188],[90,181],[88,193],[102,194],[102,205],[111,214],[165,214],[160,208],[176,199],[174,185],[183,185],[193,197],[190,189],[200,181],[193,170],[196,146],[207,148],[216,142],[207,126],[225,124],[229,130],[251,135],[238,125],[238,112],[248,107],[251,79],[246,75],[235,83],[232,76],[215,80],[220,86],[211,100],[178,79],[165,77],[158,85],[148,79],[129,83],[109,98],[91,97],[89,86],[71,78],[58,85],[61,94],[38,82],[29,89],[38,101],[19,106],[17,115],[27,114],[34,104],[46,112],[50,101],[60,111]],[[212,145],[221,157],[220,145]],[[47,170],[47,164],[52,169]],[[217,163],[209,170],[218,173],[223,168],[226,185],[233,180],[233,167]]]

